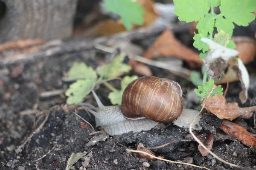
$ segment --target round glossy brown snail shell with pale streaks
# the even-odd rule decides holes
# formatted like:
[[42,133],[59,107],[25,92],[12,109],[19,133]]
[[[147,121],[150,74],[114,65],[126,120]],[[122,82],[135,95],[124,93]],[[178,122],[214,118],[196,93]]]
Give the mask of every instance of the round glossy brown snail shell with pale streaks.
[[121,109],[128,119],[146,117],[155,122],[172,122],[183,111],[182,90],[170,79],[140,77],[125,88]]

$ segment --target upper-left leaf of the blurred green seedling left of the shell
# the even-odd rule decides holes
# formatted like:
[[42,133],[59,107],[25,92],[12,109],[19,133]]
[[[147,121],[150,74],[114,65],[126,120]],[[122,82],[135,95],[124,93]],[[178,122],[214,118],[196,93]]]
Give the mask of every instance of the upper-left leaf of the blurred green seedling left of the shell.
[[84,62],[73,62],[67,72],[69,79],[96,79],[97,73],[92,67],[88,67]]

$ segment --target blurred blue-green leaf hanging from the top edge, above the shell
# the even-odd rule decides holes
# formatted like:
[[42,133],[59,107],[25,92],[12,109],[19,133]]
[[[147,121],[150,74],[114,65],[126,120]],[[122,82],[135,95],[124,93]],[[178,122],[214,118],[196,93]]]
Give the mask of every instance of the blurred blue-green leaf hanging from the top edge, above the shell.
[[132,29],[132,24],[142,25],[144,23],[143,15],[145,10],[140,3],[132,0],[105,0],[105,6],[108,11],[121,17],[127,30]]

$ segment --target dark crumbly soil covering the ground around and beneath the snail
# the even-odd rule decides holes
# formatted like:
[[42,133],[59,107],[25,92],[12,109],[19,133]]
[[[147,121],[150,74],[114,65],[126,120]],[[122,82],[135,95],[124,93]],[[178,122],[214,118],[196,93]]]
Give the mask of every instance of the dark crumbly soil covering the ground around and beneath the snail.
[[[86,62],[87,65],[96,68],[99,58],[95,58],[96,51],[83,51],[77,54],[65,54],[55,56],[44,61],[30,62],[20,65],[10,65],[0,68],[0,169],[1,170],[64,170],[72,153],[83,153],[84,158],[73,164],[74,170],[192,170],[189,166],[180,164],[168,164],[164,161],[148,161],[141,159],[133,153],[126,152],[126,148],[136,149],[139,143],[145,147],[154,147],[172,140],[191,139],[191,142],[176,142],[166,147],[154,149],[157,156],[174,161],[190,162],[196,165],[208,167],[211,170],[224,170],[237,168],[230,167],[216,160],[211,155],[201,156],[198,144],[192,140],[187,129],[169,124],[157,125],[152,130],[140,133],[126,133],[120,136],[108,136],[102,133],[91,135],[90,126],[82,126],[82,120],[73,113],[67,113],[61,109],[53,109],[49,118],[39,133],[36,133],[29,144],[22,148],[18,154],[17,147],[35,130],[43,121],[44,114],[29,113],[21,115],[20,111],[38,109],[47,110],[55,105],[65,103],[64,96],[40,98],[40,93],[56,89],[66,89],[68,83],[62,81],[64,73],[68,71],[74,61]],[[255,66],[255,64],[252,64]],[[19,71],[12,74],[14,70]],[[255,67],[254,67],[255,68]],[[158,70],[157,71],[163,71]],[[156,73],[160,74],[160,73]],[[165,76],[163,72],[162,76]],[[182,86],[192,85],[178,77],[176,81]],[[251,79],[250,99],[244,105],[256,104],[256,79]],[[186,88],[186,87],[185,87]],[[184,89],[185,89],[184,88]],[[101,86],[98,90],[103,104],[110,105],[107,98],[108,90]],[[231,83],[227,94],[229,102],[239,102],[240,83]],[[186,94],[186,92],[185,92]],[[86,102],[96,106],[94,98],[89,95]],[[184,96],[186,107],[197,108],[198,103],[189,102]],[[94,118],[85,111],[78,111],[79,115],[95,127]],[[255,134],[253,118],[249,120],[236,119],[237,124],[244,126]],[[204,111],[201,119],[203,130],[198,134],[207,136],[212,133],[214,144],[212,151],[222,159],[243,167],[256,169],[256,150],[241,144],[240,141],[224,134],[218,127],[222,120],[211,113]],[[96,130],[100,130],[99,128]],[[96,141],[95,143],[90,140]],[[55,149],[52,150],[52,148]],[[51,151],[52,150],[52,151]],[[50,152],[49,152],[50,151]],[[35,161],[44,154],[44,158]],[[148,162],[150,167],[143,167],[143,162]]]

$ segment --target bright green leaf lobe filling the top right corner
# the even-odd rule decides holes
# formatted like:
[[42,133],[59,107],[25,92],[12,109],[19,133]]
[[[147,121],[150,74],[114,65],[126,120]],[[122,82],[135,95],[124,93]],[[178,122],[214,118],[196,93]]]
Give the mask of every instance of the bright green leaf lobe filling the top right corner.
[[255,19],[256,0],[221,0],[221,14],[239,26],[248,26]]

